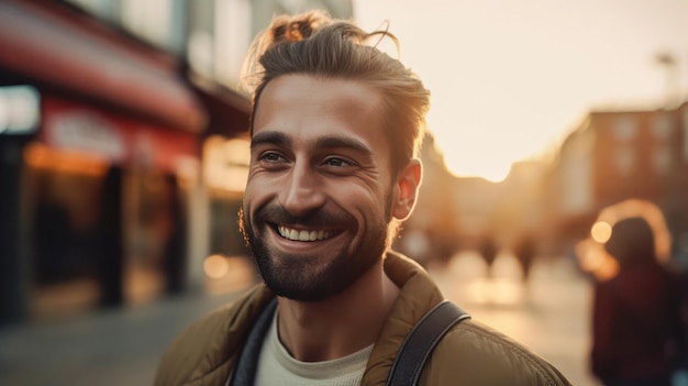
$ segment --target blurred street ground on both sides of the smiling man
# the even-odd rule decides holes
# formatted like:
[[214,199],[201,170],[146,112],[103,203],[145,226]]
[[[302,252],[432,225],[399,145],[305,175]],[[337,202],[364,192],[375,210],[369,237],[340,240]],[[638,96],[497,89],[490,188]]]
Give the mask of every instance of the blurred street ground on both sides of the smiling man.
[[[588,283],[566,261],[533,266],[525,289],[515,260],[498,256],[491,278],[477,254],[431,268],[445,295],[473,317],[532,348],[574,385],[588,376]],[[119,311],[0,330],[0,385],[151,385],[173,337],[236,291],[184,296]]]

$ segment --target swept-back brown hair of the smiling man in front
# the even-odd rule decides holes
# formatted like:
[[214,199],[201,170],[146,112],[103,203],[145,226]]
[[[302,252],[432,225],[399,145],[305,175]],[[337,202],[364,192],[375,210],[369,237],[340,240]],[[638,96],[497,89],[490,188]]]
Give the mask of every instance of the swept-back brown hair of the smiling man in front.
[[244,64],[244,85],[253,92],[251,130],[260,93],[279,76],[360,80],[384,96],[382,122],[392,144],[393,172],[398,173],[419,156],[430,91],[401,62],[366,44],[375,36],[389,37],[398,46],[397,37],[388,31],[367,33],[323,11],[274,19],[254,40]]

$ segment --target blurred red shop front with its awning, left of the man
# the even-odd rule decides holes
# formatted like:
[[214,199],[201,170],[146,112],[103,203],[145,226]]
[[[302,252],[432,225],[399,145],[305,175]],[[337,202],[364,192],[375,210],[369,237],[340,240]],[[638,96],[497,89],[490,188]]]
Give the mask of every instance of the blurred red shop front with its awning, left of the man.
[[203,135],[244,130],[247,103],[59,1],[0,3],[0,95],[16,87],[40,102],[33,128],[0,120],[0,322],[180,291]]

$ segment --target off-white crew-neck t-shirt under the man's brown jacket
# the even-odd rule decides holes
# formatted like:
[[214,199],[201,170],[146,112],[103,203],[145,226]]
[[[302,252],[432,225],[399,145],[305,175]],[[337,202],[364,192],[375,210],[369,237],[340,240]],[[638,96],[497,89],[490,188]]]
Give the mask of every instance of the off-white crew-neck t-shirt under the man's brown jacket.
[[360,385],[373,344],[351,355],[333,361],[301,362],[295,360],[279,341],[277,312],[263,341],[257,386],[357,386]]

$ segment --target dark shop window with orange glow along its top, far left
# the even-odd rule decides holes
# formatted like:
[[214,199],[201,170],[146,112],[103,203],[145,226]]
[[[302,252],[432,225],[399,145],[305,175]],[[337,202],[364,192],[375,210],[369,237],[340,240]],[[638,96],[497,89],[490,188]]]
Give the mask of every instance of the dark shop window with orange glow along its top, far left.
[[31,143],[24,152],[32,311],[51,318],[100,299],[98,253],[108,164]]

